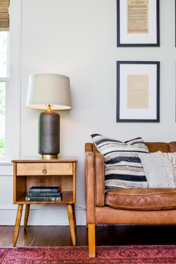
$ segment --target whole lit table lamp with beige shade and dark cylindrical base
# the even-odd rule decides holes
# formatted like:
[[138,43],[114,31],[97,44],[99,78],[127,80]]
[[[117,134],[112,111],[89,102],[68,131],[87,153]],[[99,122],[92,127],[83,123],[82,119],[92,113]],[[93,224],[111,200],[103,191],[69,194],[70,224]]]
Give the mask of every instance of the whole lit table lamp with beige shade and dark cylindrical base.
[[70,78],[60,74],[31,74],[26,107],[45,110],[38,118],[38,153],[41,158],[57,158],[60,115],[54,110],[71,108]]

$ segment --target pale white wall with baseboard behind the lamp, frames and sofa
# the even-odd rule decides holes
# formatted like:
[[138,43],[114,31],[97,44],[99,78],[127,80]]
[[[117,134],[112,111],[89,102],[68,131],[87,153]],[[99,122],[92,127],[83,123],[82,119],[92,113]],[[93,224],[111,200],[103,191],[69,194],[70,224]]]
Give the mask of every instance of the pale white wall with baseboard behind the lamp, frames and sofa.
[[[25,107],[29,75],[69,76],[73,108],[59,111],[60,156],[78,157],[76,202],[84,207],[84,144],[91,142],[89,131],[120,140],[176,140],[175,0],[160,0],[160,47],[117,48],[116,0],[22,0],[21,11],[20,153],[38,155],[40,111]],[[116,123],[117,60],[161,62],[160,123]],[[14,224],[12,176],[1,176],[0,184],[7,188],[0,191],[0,224]],[[9,198],[3,201],[5,194]],[[68,224],[65,206],[32,208],[29,224]],[[85,224],[84,210],[77,207],[76,217],[78,224]]]

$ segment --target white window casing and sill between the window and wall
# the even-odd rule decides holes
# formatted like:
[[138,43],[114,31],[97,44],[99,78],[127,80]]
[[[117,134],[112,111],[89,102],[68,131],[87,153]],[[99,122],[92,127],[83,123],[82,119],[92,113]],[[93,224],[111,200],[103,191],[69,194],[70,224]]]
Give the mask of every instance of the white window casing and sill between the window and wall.
[[[0,176],[13,176],[11,160],[20,158],[21,118],[21,0],[10,1],[10,34],[5,95],[5,156],[0,159]],[[9,77],[9,78],[8,78]],[[2,78],[3,80],[5,78]],[[1,156],[2,157],[2,156]]]

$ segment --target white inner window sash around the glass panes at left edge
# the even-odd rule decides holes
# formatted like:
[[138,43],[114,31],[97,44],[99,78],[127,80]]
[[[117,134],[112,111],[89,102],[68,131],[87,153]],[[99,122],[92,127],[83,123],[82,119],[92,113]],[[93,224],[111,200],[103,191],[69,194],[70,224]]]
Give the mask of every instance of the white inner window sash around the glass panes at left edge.
[[0,81],[5,82],[5,155],[0,155],[0,160],[9,160],[9,32],[7,31],[7,69],[6,77],[0,77]]

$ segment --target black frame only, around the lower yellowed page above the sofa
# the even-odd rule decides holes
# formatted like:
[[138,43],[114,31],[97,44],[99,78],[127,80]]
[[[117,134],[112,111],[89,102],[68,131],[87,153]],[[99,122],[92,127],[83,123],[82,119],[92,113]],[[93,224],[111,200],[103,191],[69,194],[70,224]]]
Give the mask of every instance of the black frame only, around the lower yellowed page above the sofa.
[[[157,102],[156,102],[156,119],[120,119],[120,64],[156,64],[157,65]],[[159,122],[159,61],[117,61],[117,105],[116,105],[116,122]]]

